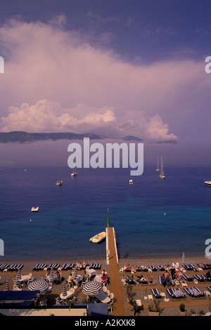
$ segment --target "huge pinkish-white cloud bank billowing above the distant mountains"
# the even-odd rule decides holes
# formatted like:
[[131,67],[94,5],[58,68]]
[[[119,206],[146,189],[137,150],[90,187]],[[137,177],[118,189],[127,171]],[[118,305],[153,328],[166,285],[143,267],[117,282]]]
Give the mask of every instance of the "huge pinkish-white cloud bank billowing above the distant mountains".
[[[175,139],[207,93],[203,63],[133,65],[89,38],[66,31],[65,18],[0,28],[0,130],[73,131]],[[194,127],[191,120],[191,129]],[[191,132],[190,132],[191,133]]]

